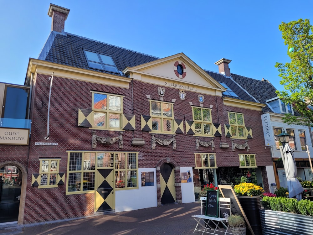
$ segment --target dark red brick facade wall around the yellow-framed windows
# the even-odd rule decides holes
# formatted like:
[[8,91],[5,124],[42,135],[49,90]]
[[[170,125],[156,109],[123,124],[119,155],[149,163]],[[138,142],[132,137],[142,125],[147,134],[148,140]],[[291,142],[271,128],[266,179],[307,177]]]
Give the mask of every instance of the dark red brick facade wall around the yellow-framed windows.
[[[265,149],[263,129],[259,111],[252,111],[239,107],[223,105],[222,97],[204,95],[203,105],[212,108],[213,123],[221,123],[222,136],[214,138],[215,150],[211,147],[200,146],[196,149],[196,138],[192,135],[177,134],[175,136],[177,148],[172,145],[161,146],[156,144],[151,149],[151,133],[141,131],[141,115],[150,115],[150,106],[146,95],[157,97],[157,87],[154,84],[132,81],[130,89],[105,86],[85,81],[76,81],[54,76],[51,103],[50,103],[50,137],[48,142],[58,143],[57,146],[38,146],[34,142],[45,142],[47,131],[47,114],[50,81],[48,75],[37,74],[35,78],[35,92],[32,115],[32,135],[29,146],[0,146],[1,161],[14,159],[20,161],[28,169],[27,193],[24,209],[24,223],[44,222],[71,217],[82,217],[94,214],[94,194],[65,195],[66,185],[58,188],[38,189],[31,186],[31,175],[39,173],[39,158],[60,158],[59,172],[66,173],[68,150],[88,151],[138,151],[139,168],[156,167],[162,159],[170,158],[178,167],[195,167],[194,153],[216,153],[217,165],[239,166],[239,153],[247,154],[246,149],[232,151],[231,139],[225,137],[224,124],[228,124],[227,111],[244,113],[245,126],[252,127],[253,139],[249,139],[249,154],[256,154],[258,166],[271,165],[272,159],[269,149]],[[123,98],[123,112],[136,114],[136,130],[123,133],[123,149],[119,149],[118,143],[112,145],[97,144],[91,148],[92,130],[78,127],[78,109],[91,109],[92,94],[90,91],[100,91],[125,96]],[[133,91],[133,92],[132,92]],[[179,90],[166,87],[164,99],[176,99],[173,106],[174,117],[180,120],[192,120],[192,108],[189,102],[198,105],[198,93],[185,91],[186,99],[179,98]],[[134,101],[134,104],[133,102]],[[133,105],[132,105],[133,104]],[[184,130],[186,130],[184,122]],[[119,131],[96,130],[96,134],[102,137],[117,137]],[[156,134],[157,138],[171,138],[171,135]],[[143,138],[144,146],[132,146],[133,138]],[[200,140],[210,141],[208,137],[199,137]],[[244,140],[235,140],[244,144]],[[230,148],[220,149],[220,143],[228,143]],[[29,158],[28,157],[29,148]],[[263,174],[264,174],[263,170]],[[175,171],[175,182],[180,182],[179,170]],[[159,184],[158,178],[156,183]],[[265,184],[264,174],[264,185]],[[65,179],[66,182],[66,179]],[[180,187],[176,188],[176,197],[182,198]],[[157,191],[158,198],[160,192]],[[38,217],[39,215],[39,217]]]

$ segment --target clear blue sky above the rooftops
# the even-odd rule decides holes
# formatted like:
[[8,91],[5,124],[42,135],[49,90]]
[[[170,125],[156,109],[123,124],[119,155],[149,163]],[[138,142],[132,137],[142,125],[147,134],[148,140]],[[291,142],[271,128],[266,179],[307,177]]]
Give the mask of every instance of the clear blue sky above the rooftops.
[[[88,2],[88,3],[87,3]],[[289,62],[279,24],[308,18],[313,1],[0,0],[0,81],[23,84],[29,58],[38,58],[51,31],[49,4],[69,8],[65,32],[157,57],[183,52],[203,69],[232,60],[232,73],[268,79]]]

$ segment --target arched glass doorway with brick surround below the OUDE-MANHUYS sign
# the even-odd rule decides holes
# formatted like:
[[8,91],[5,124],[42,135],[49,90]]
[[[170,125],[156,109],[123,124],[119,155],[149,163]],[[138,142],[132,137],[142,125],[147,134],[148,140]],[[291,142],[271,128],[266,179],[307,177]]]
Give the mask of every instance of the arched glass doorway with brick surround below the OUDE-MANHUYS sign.
[[23,223],[26,168],[16,161],[0,163],[0,224]]

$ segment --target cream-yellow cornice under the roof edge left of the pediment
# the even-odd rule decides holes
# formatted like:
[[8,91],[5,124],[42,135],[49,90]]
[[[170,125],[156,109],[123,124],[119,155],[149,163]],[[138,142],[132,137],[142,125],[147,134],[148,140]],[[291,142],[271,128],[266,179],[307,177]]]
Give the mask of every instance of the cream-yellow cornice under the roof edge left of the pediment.
[[74,79],[79,81],[94,82],[98,84],[104,84],[109,86],[118,86],[128,88],[131,78],[111,75],[107,73],[97,72],[93,70],[87,70],[77,68],[69,65],[62,65],[44,60],[38,60],[30,58],[28,62],[26,77],[30,77],[31,74],[45,74],[64,77],[68,79]]

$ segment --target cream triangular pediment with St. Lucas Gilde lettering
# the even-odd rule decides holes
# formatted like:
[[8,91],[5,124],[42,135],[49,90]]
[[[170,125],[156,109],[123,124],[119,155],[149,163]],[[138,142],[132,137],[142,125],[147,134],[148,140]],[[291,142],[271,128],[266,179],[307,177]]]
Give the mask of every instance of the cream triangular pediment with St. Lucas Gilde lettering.
[[[182,74],[177,72],[177,65],[182,66]],[[223,86],[183,53],[134,67],[126,67],[123,73],[129,74],[135,80],[160,86],[173,86],[182,89],[186,86],[198,87],[199,89],[201,87],[202,92],[204,90],[210,91],[204,93],[212,94],[213,92],[220,96],[221,92],[225,91]]]

